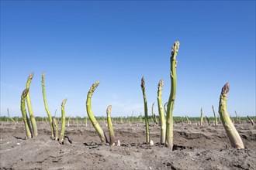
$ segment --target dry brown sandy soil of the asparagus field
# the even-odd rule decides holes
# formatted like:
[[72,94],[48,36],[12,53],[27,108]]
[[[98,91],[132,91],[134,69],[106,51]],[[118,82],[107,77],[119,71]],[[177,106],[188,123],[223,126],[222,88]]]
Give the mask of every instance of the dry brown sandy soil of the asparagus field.
[[[244,149],[230,147],[223,125],[176,123],[174,151],[159,145],[160,127],[150,124],[145,144],[143,123],[114,123],[121,146],[101,144],[91,124],[66,127],[64,145],[50,139],[47,122],[26,140],[24,124],[0,123],[0,169],[256,169],[256,125],[235,124]],[[107,133],[106,124],[101,124]]]

